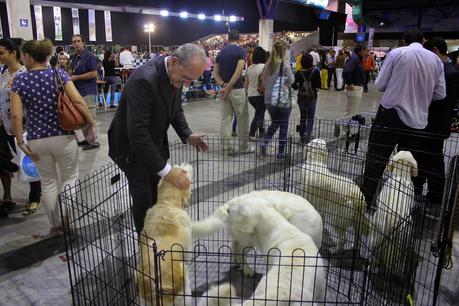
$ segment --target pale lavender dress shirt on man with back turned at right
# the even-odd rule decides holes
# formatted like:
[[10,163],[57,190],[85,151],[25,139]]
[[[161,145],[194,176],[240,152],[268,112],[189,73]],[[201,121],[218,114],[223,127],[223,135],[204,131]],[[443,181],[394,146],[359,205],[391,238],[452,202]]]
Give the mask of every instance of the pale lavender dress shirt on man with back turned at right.
[[432,100],[446,97],[443,70],[441,60],[420,43],[392,50],[376,79],[376,87],[384,91],[381,106],[395,108],[407,126],[425,128]]

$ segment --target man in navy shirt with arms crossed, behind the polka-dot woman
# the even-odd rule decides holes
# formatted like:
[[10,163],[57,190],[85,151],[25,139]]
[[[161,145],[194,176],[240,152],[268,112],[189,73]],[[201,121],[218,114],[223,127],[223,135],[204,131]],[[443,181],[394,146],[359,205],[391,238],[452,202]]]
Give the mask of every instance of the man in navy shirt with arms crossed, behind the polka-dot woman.
[[[94,54],[86,50],[84,37],[80,34],[73,35],[73,47],[76,53],[72,56],[72,81],[80,95],[86,101],[91,114],[96,119],[96,95],[97,95],[97,60]],[[86,135],[89,126],[82,129]],[[79,146],[83,150],[96,149],[100,146],[98,142],[88,143],[86,140],[79,141]]]

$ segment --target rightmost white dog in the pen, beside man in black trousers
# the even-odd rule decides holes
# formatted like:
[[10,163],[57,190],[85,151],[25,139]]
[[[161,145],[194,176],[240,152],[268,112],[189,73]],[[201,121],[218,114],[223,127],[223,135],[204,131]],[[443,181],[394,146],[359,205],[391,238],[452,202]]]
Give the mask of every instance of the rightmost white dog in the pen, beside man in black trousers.
[[[376,231],[371,237],[370,248],[377,256],[383,256],[386,266],[403,273],[403,261],[406,258],[403,249],[407,248],[406,244],[412,236],[411,211],[415,202],[411,177],[417,176],[417,162],[409,151],[400,151],[389,161],[387,172],[389,178],[381,188],[373,216]],[[397,232],[393,233],[394,230]],[[386,243],[381,246],[384,240]],[[384,254],[379,254],[381,251]]]

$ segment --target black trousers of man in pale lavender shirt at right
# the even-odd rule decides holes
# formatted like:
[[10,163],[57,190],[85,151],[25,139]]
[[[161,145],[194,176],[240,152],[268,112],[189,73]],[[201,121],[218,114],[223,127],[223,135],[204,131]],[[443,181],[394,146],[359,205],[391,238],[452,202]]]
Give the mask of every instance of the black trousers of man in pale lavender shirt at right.
[[[389,161],[390,155],[398,144],[398,151],[407,150],[417,160],[421,159],[423,130],[405,125],[395,109],[379,107],[370,131],[367,158],[361,190],[369,206],[373,205],[379,180]],[[418,165],[422,171],[422,163]]]

